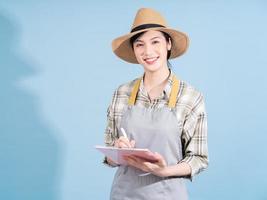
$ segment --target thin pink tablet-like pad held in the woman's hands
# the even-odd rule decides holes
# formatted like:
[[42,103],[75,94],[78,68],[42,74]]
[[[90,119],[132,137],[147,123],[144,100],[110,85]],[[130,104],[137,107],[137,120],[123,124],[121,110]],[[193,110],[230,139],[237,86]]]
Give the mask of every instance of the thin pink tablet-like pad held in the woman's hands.
[[97,150],[105,154],[108,158],[120,165],[126,165],[126,161],[123,156],[134,155],[147,160],[148,162],[157,162],[157,158],[154,153],[148,149],[138,148],[117,148],[117,147],[106,147],[106,146],[95,146]]

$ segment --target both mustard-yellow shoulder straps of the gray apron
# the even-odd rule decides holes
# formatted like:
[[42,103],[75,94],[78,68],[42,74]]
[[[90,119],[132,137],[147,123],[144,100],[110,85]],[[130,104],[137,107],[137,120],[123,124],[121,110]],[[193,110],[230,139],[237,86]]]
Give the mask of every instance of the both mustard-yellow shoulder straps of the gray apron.
[[[142,78],[139,78],[134,83],[133,90],[132,90],[131,96],[130,96],[129,101],[128,101],[128,104],[130,106],[134,105],[134,103],[135,103],[141,80],[142,80]],[[179,92],[179,85],[180,85],[179,84],[180,81],[176,78],[175,75],[173,75],[173,77],[172,77],[172,82],[173,82],[173,84],[172,84],[172,89],[171,89],[171,94],[170,94],[169,104],[168,104],[169,108],[174,108],[176,105],[177,94]]]

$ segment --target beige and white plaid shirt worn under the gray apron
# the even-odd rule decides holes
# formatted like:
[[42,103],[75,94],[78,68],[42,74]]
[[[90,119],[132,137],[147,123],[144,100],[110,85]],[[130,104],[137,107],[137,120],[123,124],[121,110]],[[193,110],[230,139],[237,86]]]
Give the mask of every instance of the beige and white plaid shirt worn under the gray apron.
[[[163,92],[152,102],[144,88],[142,79],[135,105],[150,108],[168,106],[172,88],[172,76],[173,72],[171,71]],[[107,146],[113,146],[114,141],[119,137],[118,127],[120,127],[124,108],[128,105],[128,99],[136,80],[120,85],[114,92],[112,102],[107,110],[107,127],[105,130],[105,144]],[[177,123],[182,130],[183,159],[180,162],[189,164],[192,170],[190,176],[192,180],[194,175],[208,166],[207,114],[203,95],[186,82],[180,80],[175,110]]]

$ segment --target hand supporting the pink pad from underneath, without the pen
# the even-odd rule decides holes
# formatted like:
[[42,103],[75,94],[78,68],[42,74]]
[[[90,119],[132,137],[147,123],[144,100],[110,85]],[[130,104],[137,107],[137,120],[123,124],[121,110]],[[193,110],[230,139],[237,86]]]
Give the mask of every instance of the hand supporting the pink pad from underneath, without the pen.
[[141,169],[142,171],[149,172],[151,174],[165,177],[167,176],[167,164],[165,159],[159,153],[155,153],[157,162],[151,163],[145,159],[139,158],[137,156],[127,156],[125,160],[128,165]]

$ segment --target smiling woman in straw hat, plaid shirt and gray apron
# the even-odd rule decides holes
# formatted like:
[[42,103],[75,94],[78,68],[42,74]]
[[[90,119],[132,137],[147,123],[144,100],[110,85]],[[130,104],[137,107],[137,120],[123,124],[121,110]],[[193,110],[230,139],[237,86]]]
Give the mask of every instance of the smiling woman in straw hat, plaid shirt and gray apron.
[[[147,148],[157,162],[125,157],[118,167],[110,199],[187,199],[184,178],[208,165],[207,115],[200,92],[176,78],[168,59],[182,55],[188,37],[167,27],[160,13],[138,10],[131,32],[112,42],[121,59],[143,66],[142,77],[115,91],[108,108],[105,143],[119,148]],[[123,136],[121,128],[127,133]]]

